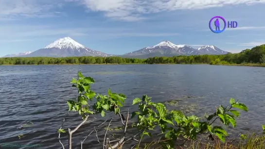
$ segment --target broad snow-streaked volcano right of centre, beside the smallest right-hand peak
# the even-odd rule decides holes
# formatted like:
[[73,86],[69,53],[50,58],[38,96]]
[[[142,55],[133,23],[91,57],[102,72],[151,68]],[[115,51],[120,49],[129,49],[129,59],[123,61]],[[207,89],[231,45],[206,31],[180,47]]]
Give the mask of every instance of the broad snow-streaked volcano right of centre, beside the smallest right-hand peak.
[[196,55],[197,51],[188,45],[175,45],[170,41],[162,41],[155,46],[126,53],[123,57],[148,58],[155,56]]

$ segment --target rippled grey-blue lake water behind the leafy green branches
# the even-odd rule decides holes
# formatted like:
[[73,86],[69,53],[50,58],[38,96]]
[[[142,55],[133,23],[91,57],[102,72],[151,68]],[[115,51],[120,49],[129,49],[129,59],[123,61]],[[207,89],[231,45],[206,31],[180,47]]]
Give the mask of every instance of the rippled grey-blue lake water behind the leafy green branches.
[[[212,113],[219,104],[229,105],[229,99],[239,99],[249,112],[242,112],[237,119],[237,128],[230,135],[240,132],[261,132],[265,123],[265,67],[210,66],[210,65],[53,65],[53,66],[0,66],[0,144],[24,145],[28,149],[61,149],[57,130],[64,117],[64,128],[73,129],[81,122],[80,116],[68,113],[67,99],[77,96],[71,87],[71,79],[81,70],[95,80],[92,90],[113,92],[127,96],[122,110],[137,109],[131,106],[132,99],[147,94],[155,102],[176,100],[170,109],[180,109],[186,114],[203,116]],[[73,149],[80,149],[83,140],[93,126],[99,129],[102,143],[111,114],[90,117],[73,134]],[[114,116],[111,127],[121,126],[119,116]],[[132,132],[133,130],[129,131]],[[111,133],[115,133],[113,130]],[[18,138],[20,136],[20,139]],[[62,142],[67,145],[65,134]],[[98,149],[95,134],[84,142],[85,149]]]

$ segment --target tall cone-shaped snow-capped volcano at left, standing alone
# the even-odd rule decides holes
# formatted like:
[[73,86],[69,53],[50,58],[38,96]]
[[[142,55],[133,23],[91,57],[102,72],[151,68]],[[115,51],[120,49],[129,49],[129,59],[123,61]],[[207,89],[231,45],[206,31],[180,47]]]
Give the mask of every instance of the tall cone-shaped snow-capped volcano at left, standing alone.
[[109,56],[106,53],[88,49],[70,37],[55,40],[43,49],[36,50],[23,57],[68,57],[68,56]]

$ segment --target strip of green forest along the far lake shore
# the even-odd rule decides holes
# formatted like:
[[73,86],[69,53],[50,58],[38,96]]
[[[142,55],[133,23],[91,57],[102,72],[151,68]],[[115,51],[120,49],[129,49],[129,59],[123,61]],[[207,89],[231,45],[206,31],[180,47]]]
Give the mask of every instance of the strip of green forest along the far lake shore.
[[191,55],[150,57],[147,59],[122,57],[10,57],[0,58],[0,65],[53,65],[53,64],[242,64],[265,63],[265,45],[225,55]]

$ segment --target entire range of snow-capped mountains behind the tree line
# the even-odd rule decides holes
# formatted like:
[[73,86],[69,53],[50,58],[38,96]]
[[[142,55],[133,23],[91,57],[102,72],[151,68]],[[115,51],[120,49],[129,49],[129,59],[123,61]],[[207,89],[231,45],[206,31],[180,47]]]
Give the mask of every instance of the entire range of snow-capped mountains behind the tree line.
[[70,37],[57,39],[45,48],[34,52],[24,52],[19,54],[9,54],[3,57],[69,57],[69,56],[121,56],[128,58],[148,58],[155,56],[177,56],[177,55],[202,55],[202,54],[227,54],[227,51],[221,50],[215,46],[202,46],[194,49],[188,45],[175,45],[170,41],[162,41],[151,47],[145,47],[123,55],[107,54],[97,50],[91,50],[84,45],[76,42]]

